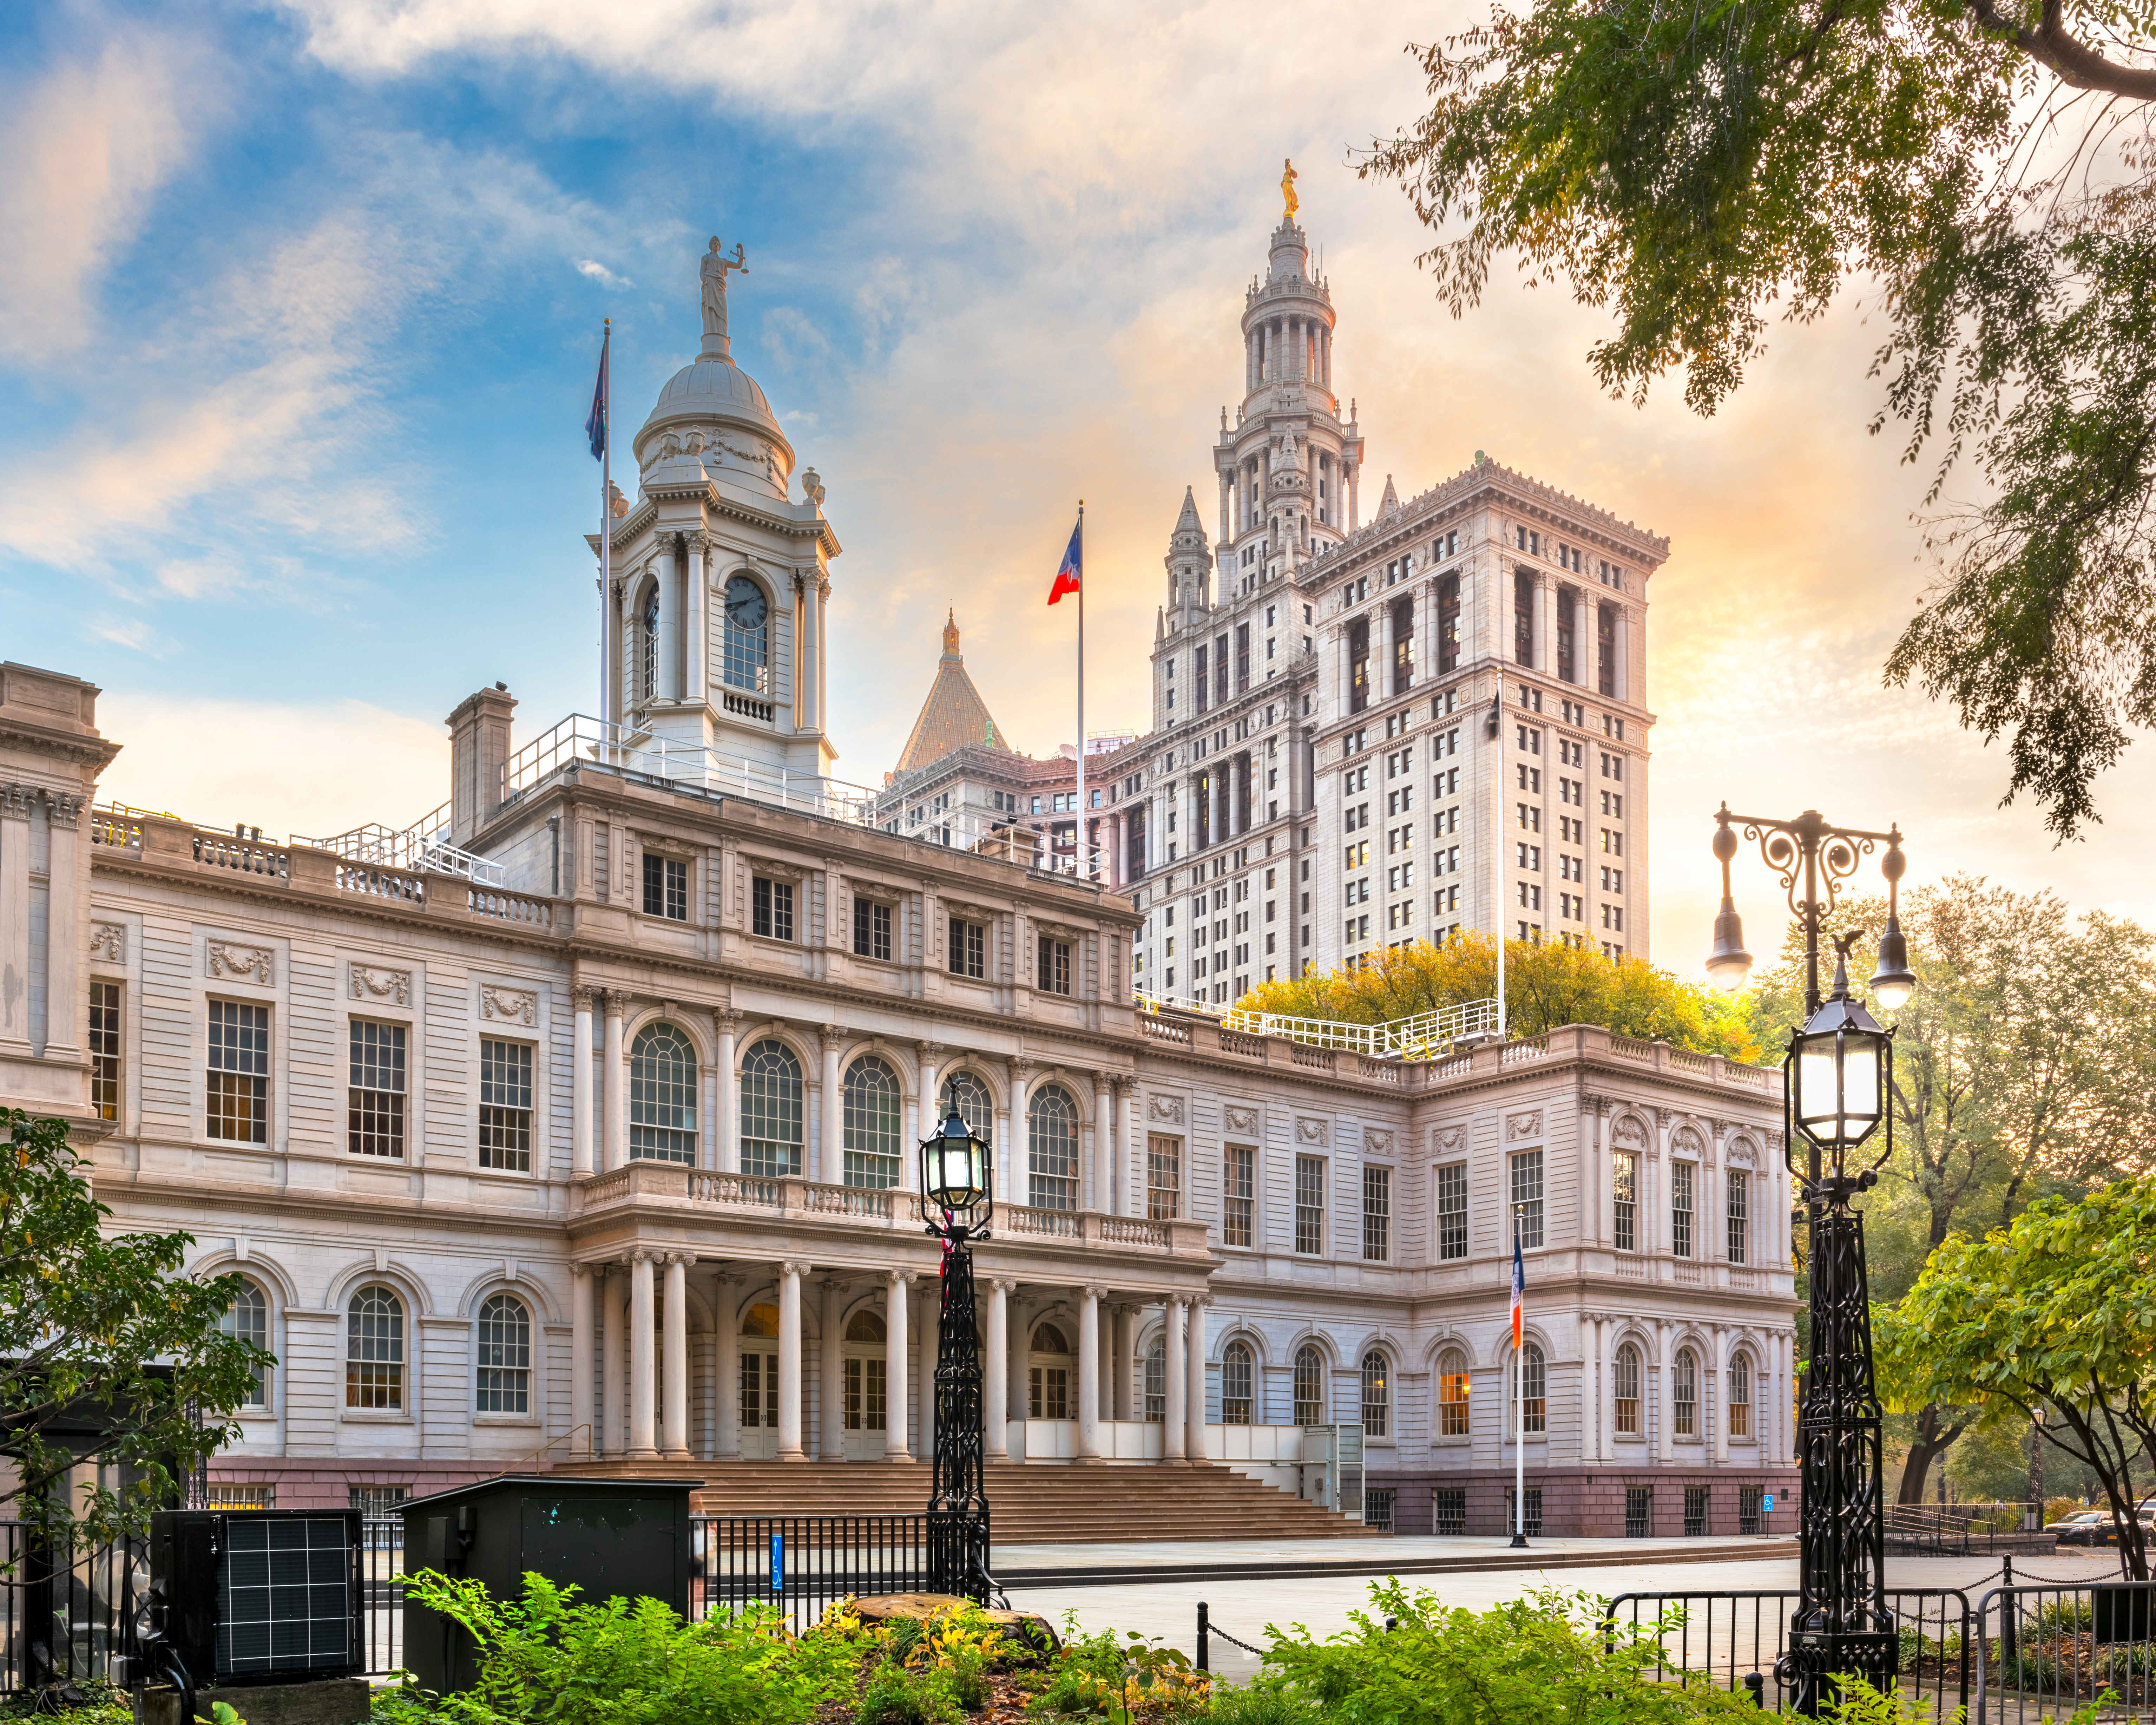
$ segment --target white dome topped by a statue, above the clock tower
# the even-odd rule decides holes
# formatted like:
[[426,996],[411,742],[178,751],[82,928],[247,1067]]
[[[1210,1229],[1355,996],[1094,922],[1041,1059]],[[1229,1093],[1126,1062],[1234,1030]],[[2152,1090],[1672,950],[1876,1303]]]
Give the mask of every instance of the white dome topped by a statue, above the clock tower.
[[636,466],[645,489],[696,485],[705,477],[740,492],[787,502],[793,444],[778,429],[757,380],[733,362],[727,334],[727,276],[748,272],[746,252],[703,257],[703,349],[694,364],[666,380],[636,433]]

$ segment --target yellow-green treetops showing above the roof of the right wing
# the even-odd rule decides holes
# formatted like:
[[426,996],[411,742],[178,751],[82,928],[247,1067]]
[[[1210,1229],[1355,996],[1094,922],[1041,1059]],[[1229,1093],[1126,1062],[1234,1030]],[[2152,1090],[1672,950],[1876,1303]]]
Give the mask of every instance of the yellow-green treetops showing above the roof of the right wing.
[[[1384,1024],[1496,998],[1496,940],[1464,929],[1442,947],[1416,940],[1371,953],[1356,968],[1259,983],[1244,1011]],[[1701,1054],[1759,1054],[1751,1013],[1712,990],[1682,983],[1641,957],[1606,960],[1563,942],[1505,942],[1505,1026],[1531,1037],[1559,1024],[1602,1024],[1617,1035],[1669,1041]]]

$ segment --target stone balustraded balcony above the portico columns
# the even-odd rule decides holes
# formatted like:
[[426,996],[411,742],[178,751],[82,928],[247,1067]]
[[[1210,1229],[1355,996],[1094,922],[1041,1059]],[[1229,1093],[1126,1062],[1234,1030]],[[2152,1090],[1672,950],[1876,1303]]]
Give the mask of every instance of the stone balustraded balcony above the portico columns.
[[[610,1212],[660,1210],[742,1223],[813,1223],[847,1233],[921,1233],[918,1197],[897,1186],[828,1186],[815,1179],[746,1173],[709,1173],[679,1162],[630,1162],[569,1188],[571,1220],[593,1220]],[[1039,1240],[1080,1251],[1110,1248],[1158,1253],[1160,1257],[1207,1257],[1205,1223],[1151,1223],[1143,1216],[1110,1216],[1100,1210],[1033,1210],[998,1203],[996,1242]]]

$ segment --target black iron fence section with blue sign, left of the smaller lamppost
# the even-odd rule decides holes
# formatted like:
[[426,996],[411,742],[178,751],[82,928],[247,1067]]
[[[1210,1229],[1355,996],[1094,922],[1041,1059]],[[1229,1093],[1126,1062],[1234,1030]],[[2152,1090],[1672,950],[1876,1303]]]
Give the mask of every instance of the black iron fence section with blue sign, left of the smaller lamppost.
[[694,1516],[690,1615],[776,1604],[800,1630],[847,1593],[921,1593],[927,1524],[927,1516]]

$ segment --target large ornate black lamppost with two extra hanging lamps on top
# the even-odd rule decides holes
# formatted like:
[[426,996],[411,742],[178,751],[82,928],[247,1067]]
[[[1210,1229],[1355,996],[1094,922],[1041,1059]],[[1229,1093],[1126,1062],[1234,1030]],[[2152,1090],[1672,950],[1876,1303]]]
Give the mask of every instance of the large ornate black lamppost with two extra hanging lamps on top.
[[[1887,845],[1889,912],[1880,936],[1874,998],[1899,1007],[1917,990],[1902,938],[1899,882],[1908,869],[1902,830],[1854,832],[1828,826],[1815,809],[1794,822],[1714,817],[1714,856],[1723,865],[1723,910],[1714,919],[1708,975],[1736,988],[1751,972],[1744,927],[1729,895],[1736,826],[1759,843],[1781,875],[1789,910],[1805,925],[1805,1026],[1789,1033],[1783,1059],[1783,1160],[1798,1184],[1811,1229],[1811,1352],[1798,1406],[1800,1593],[1789,1617],[1789,1652],[1777,1675],[1800,1714],[1833,1699],[1837,1675],[1863,1675],[1887,1688],[1899,1669],[1899,1637],[1887,1611],[1887,1537],[1880,1496],[1880,1402],[1871,1380],[1871,1302],[1865,1285],[1865,1218],[1850,1210],[1893,1156],[1893,1031],[1880,1029],[1850,998],[1850,947],[1863,929],[1835,938],[1835,992],[1820,998],[1820,925],[1858,858]],[[1880,1151],[1854,1167],[1880,1134]],[[1805,1143],[1798,1160],[1798,1138]]]

